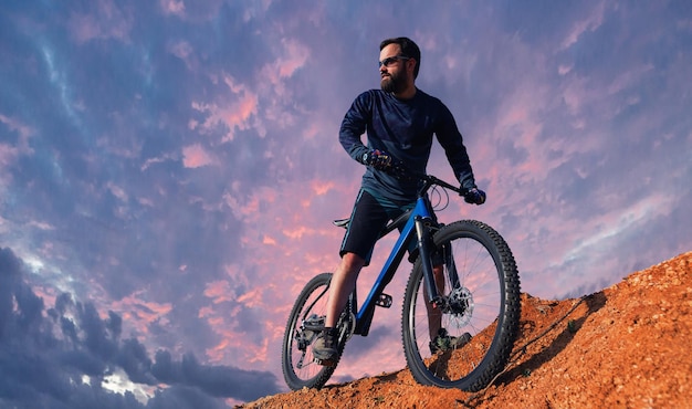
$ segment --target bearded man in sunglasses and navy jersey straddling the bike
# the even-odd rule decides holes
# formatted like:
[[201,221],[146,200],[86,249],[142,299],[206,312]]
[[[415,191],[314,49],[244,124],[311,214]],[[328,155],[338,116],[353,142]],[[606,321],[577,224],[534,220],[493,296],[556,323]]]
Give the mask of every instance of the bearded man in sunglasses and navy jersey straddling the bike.
[[[448,107],[438,98],[416,87],[420,69],[420,49],[408,38],[395,38],[379,45],[381,90],[370,90],[356,97],[339,130],[339,141],[352,158],[367,166],[360,191],[342,242],[340,263],[332,277],[325,331],[313,346],[322,365],[336,364],[336,321],[356,286],[360,269],[368,265],[379,232],[389,220],[416,204],[418,181],[401,177],[402,165],[412,174],[424,174],[432,135],[444,148],[447,158],[468,193],[465,201],[485,202],[479,190],[463,145],[462,136]],[[367,146],[360,136],[367,132]],[[441,266],[433,269],[439,287],[444,284]],[[428,321],[430,349],[454,345],[441,327],[442,314],[430,303]],[[468,340],[468,339],[466,339]]]

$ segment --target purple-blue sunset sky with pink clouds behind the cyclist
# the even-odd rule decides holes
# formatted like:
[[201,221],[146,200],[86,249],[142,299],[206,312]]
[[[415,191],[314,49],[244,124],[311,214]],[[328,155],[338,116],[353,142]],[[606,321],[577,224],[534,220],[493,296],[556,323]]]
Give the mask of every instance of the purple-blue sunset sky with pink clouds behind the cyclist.
[[[338,128],[400,35],[487,192],[438,216],[495,228],[523,292],[577,297],[692,250],[689,1],[6,0],[0,407],[286,391],[289,312],[337,265],[331,221],[365,170]],[[439,145],[428,171],[453,181]],[[333,381],[405,367],[409,271]]]

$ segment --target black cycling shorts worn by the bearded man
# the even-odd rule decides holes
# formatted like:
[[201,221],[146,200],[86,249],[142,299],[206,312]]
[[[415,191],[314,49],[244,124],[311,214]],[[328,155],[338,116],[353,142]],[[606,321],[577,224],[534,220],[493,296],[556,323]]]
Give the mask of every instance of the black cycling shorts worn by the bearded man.
[[368,265],[375,243],[387,222],[396,219],[415,204],[416,202],[397,206],[386,200],[377,200],[368,191],[360,189],[350,214],[348,230],[346,230],[342,241],[339,255],[355,253],[365,260],[365,265]]

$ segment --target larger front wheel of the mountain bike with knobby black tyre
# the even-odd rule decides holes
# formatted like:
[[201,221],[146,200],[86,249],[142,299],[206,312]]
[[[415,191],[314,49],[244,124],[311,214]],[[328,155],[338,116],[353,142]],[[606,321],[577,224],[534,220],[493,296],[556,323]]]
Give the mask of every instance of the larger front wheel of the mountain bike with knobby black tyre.
[[406,360],[422,385],[478,391],[504,369],[518,332],[516,263],[502,237],[480,221],[453,222],[432,240],[441,298],[434,307],[427,302],[419,259],[403,298]]

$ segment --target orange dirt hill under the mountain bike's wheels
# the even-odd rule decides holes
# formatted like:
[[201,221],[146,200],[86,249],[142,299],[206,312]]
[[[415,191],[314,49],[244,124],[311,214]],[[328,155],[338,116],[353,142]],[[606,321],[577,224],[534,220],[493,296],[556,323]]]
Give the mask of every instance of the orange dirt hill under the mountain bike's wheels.
[[581,298],[524,294],[512,361],[478,394],[402,369],[241,408],[690,408],[691,274],[688,252]]

